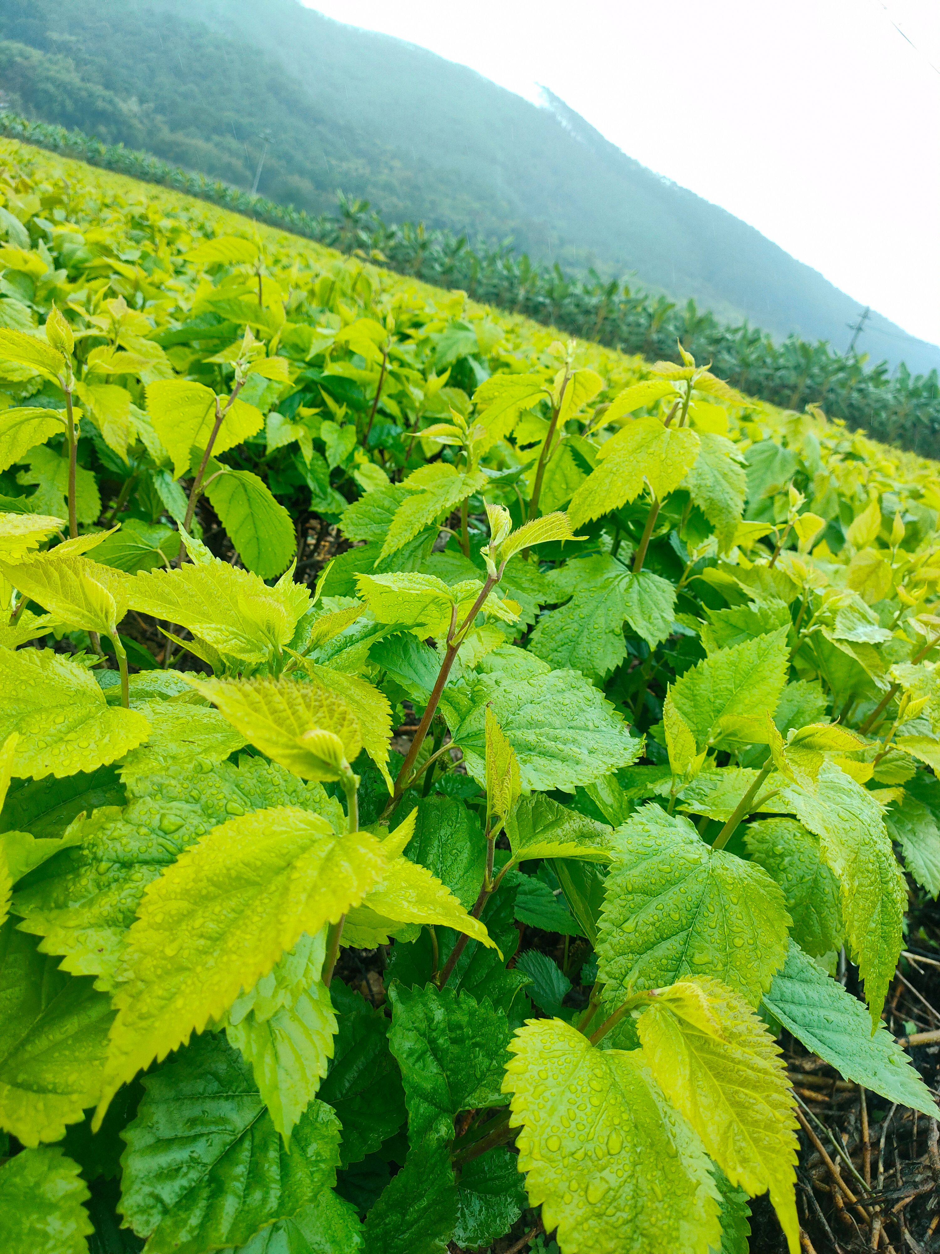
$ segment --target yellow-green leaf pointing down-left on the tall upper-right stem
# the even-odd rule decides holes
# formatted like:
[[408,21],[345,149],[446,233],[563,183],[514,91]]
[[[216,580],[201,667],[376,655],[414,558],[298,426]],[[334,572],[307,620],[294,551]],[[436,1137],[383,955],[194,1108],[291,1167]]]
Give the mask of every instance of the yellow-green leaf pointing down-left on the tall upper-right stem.
[[598,451],[599,465],[572,498],[573,527],[609,514],[643,490],[667,497],[694,465],[699,438],[688,426],[663,426],[658,418],[638,418],[622,426]]

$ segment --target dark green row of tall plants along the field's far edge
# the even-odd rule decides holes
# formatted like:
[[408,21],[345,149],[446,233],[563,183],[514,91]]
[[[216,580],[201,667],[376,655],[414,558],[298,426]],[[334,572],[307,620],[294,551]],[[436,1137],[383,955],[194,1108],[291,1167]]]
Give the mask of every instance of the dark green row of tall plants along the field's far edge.
[[865,354],[840,352],[826,341],[813,344],[796,335],[777,344],[757,327],[722,322],[694,301],[679,305],[622,278],[602,278],[593,271],[577,277],[558,265],[534,263],[516,253],[511,241],[471,243],[466,234],[426,229],[422,223],[387,223],[367,201],[342,193],[335,217],[317,217],[80,130],[4,113],[0,133],[198,196],[346,253],[365,253],[392,270],[464,290],[474,300],[625,352],[677,361],[678,341],[748,395],[795,410],[818,405],[876,439],[927,456],[940,448],[936,371],[912,375],[901,365],[892,372]]

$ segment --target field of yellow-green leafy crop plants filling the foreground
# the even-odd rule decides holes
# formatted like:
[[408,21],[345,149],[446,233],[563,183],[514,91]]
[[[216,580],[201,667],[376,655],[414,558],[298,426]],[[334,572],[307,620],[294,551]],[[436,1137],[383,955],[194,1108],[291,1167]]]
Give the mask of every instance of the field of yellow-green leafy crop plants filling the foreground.
[[0,237],[3,1254],[934,1249],[937,464],[11,140]]

